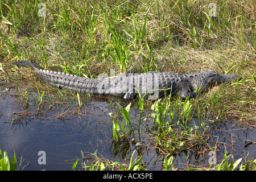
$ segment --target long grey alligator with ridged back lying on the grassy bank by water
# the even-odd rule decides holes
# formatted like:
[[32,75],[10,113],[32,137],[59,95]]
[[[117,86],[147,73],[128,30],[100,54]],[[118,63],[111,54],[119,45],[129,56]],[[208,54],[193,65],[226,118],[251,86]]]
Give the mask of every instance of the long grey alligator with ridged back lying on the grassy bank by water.
[[190,74],[148,72],[128,73],[115,77],[86,78],[53,72],[37,67],[29,60],[14,65],[32,67],[40,80],[60,89],[74,90],[79,93],[110,94],[130,100],[139,95],[156,100],[161,96],[181,96],[186,99],[195,98],[206,92],[215,84],[237,80],[238,75],[218,75],[213,71]]

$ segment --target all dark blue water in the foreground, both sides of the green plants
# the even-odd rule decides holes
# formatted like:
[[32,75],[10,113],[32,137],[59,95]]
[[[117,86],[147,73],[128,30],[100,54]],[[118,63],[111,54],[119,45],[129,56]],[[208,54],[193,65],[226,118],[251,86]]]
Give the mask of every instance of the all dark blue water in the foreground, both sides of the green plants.
[[[8,152],[10,160],[15,151],[18,169],[72,170],[75,160],[81,159],[81,151],[94,153],[97,150],[98,156],[113,162],[122,159],[122,152],[118,154],[113,149],[113,119],[109,116],[110,112],[120,110],[116,108],[116,104],[91,101],[83,103],[84,106],[80,108],[77,103],[65,102],[52,104],[51,107],[32,104],[24,106],[16,97],[18,96],[12,89],[6,92],[4,88],[0,90],[0,148],[2,152]],[[137,118],[138,111],[131,108],[130,117],[131,120]],[[244,148],[249,141],[255,142],[254,128],[238,125],[232,120],[210,126],[213,128],[212,138],[218,141],[223,151],[232,153],[235,160],[244,158],[245,155],[246,160],[255,158],[255,144]],[[147,140],[148,136],[140,137],[137,139],[143,141]],[[128,147],[131,151],[138,148]],[[38,163],[41,156],[38,155],[39,151],[45,152],[46,164]],[[184,167],[188,158],[192,166],[208,163],[210,156],[204,156],[202,160],[192,153],[193,151],[188,151],[183,155],[176,155],[175,167]],[[137,153],[135,155],[137,156]],[[217,155],[221,161],[223,152]],[[149,149],[143,151],[142,160],[147,169],[159,170],[162,159],[162,156],[156,154],[154,146],[149,145]],[[80,164],[77,169],[79,167]]]

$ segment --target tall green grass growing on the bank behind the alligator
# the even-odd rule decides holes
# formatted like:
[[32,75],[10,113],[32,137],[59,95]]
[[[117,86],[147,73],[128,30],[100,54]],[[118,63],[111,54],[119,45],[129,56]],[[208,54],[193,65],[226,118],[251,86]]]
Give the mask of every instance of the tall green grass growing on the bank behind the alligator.
[[[56,0],[44,4],[45,16],[39,16],[38,11],[42,9],[37,1],[1,1],[1,39],[7,46],[2,53],[9,50],[7,55],[12,55],[12,59],[27,59],[28,55],[41,59],[45,53],[59,65],[64,60],[72,64],[73,57],[76,65],[81,65],[77,52],[84,54],[89,50],[90,56],[86,58],[92,59],[92,63],[105,61],[105,66],[118,65],[119,72],[126,72],[127,65],[129,69],[139,71],[143,67],[148,72],[154,71],[152,65],[165,66],[162,56],[168,57],[171,52],[164,45],[172,47],[174,40],[183,47],[190,45],[195,49],[208,48],[216,37],[212,46],[221,46],[221,42],[239,43],[237,46],[255,42],[255,17],[246,13],[254,10],[253,2],[244,7],[239,3],[220,2],[214,10],[218,16],[209,16],[212,9],[208,2],[192,5],[189,1]],[[30,20],[29,28],[25,19]],[[49,42],[55,44],[55,49],[46,49],[38,42],[51,36],[59,39],[57,44]],[[154,61],[150,61],[152,57]],[[136,60],[142,59],[141,66],[136,67]]]

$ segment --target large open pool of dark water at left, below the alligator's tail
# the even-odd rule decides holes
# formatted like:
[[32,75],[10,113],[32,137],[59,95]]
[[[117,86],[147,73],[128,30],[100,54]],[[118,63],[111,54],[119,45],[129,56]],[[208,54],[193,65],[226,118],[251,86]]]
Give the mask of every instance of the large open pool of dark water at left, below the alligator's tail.
[[[29,162],[24,170],[70,170],[75,161],[65,160],[81,159],[81,151],[104,154],[109,150],[112,133],[104,102],[90,102],[81,108],[81,114],[73,114],[79,112],[77,106],[24,110],[16,103],[13,90],[1,93],[0,98],[0,148],[9,158],[15,150],[18,160],[20,156],[24,160],[22,166]],[[46,165],[38,164],[39,151],[46,152]]]

